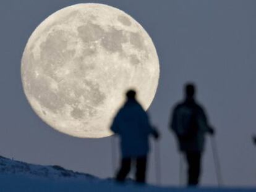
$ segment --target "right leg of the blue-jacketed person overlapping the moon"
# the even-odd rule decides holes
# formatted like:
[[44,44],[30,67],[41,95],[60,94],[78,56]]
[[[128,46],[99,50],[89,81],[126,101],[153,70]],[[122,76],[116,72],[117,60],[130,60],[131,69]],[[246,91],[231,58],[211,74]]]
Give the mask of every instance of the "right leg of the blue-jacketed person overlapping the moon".
[[136,182],[145,183],[147,169],[147,156],[137,157],[136,159]]

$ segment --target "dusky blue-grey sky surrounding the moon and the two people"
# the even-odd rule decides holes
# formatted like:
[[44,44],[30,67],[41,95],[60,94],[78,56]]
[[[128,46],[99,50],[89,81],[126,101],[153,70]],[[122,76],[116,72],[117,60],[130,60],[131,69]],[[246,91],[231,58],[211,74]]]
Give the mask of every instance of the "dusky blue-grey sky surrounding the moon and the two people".
[[[43,123],[22,90],[20,59],[33,30],[50,14],[81,2],[100,2],[134,17],[148,31],[160,59],[160,84],[150,107],[161,131],[164,185],[179,184],[179,154],[168,130],[169,113],[194,81],[198,100],[217,129],[224,183],[255,185],[256,1],[0,1],[0,154],[35,164],[111,177],[111,139],[79,139]],[[210,141],[210,140],[208,140]],[[153,144],[153,143],[152,143]],[[155,183],[154,145],[148,180]],[[203,157],[203,185],[216,185],[210,142]]]

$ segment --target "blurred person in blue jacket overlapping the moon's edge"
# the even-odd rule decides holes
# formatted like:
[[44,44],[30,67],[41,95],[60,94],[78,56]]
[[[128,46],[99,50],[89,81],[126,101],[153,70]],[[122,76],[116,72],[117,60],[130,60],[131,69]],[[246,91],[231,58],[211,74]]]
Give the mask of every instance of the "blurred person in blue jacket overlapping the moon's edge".
[[145,182],[148,136],[158,138],[158,132],[151,127],[148,115],[137,102],[135,95],[133,90],[126,93],[127,101],[117,112],[111,125],[111,130],[121,138],[121,168],[116,175],[119,182],[126,179],[132,163],[136,167],[136,182]]

